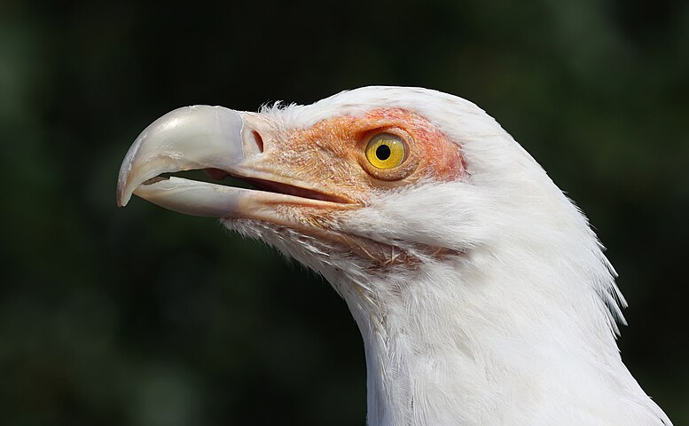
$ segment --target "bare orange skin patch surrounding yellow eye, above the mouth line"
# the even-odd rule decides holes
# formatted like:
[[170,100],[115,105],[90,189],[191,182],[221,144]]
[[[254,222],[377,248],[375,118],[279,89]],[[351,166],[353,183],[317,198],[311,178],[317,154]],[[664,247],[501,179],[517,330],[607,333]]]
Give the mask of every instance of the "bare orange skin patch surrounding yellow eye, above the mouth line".
[[[264,145],[270,172],[293,182],[297,178],[302,187],[308,183],[309,190],[345,203],[365,204],[378,191],[423,178],[454,180],[466,172],[458,144],[424,117],[400,108],[341,115],[308,129],[272,130],[263,135],[270,138]],[[380,133],[395,135],[406,145],[405,160],[393,169],[377,169],[366,159],[368,142]],[[254,167],[262,168],[262,164]]]

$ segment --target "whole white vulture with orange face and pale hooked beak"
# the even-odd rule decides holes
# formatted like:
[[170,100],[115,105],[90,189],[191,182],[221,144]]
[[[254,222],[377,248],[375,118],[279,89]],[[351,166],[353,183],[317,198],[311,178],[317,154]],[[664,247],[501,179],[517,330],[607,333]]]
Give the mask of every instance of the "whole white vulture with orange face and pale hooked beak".
[[671,424],[622,364],[624,300],[586,218],[465,99],[183,107],[129,149],[119,204],[132,193],[321,273],[363,336],[371,426]]

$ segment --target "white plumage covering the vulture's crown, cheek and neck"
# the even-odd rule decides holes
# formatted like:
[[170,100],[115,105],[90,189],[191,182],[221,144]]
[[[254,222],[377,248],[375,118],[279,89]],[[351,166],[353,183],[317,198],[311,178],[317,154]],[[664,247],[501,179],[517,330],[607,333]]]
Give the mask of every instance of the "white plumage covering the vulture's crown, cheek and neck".
[[438,91],[367,87],[264,108],[251,125],[269,146],[265,135],[380,108],[427,119],[460,146],[465,173],[376,188],[317,226],[411,260],[381,266],[298,226],[222,219],[343,296],[364,338],[368,423],[670,425],[622,364],[624,300],[586,218],[480,108]]

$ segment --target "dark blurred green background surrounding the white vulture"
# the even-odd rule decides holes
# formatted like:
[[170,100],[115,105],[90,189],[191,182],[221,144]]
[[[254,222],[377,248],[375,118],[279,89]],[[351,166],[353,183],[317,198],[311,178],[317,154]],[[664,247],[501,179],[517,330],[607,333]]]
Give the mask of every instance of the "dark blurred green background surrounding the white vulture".
[[549,170],[620,272],[623,359],[688,423],[688,5],[0,2],[0,424],[363,425],[327,283],[114,188],[177,106],[373,83],[471,99]]

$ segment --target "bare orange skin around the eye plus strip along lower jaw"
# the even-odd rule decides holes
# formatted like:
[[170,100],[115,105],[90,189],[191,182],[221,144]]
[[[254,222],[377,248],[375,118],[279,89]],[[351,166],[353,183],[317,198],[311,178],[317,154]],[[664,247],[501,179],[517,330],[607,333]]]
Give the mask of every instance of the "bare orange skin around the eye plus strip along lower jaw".
[[[426,118],[401,108],[341,115],[296,130],[285,130],[270,118],[261,120],[254,123],[253,135],[261,154],[247,159],[243,167],[251,174],[239,178],[259,189],[296,196],[262,201],[273,212],[270,222],[336,243],[376,267],[413,264],[415,259],[401,248],[336,231],[338,217],[366,206],[375,194],[421,179],[446,182],[466,174],[461,147]],[[381,170],[366,159],[366,146],[380,133],[403,140],[406,157],[399,166]],[[264,220],[255,213],[247,212],[247,218]],[[431,256],[448,254],[438,248],[427,251]]]

